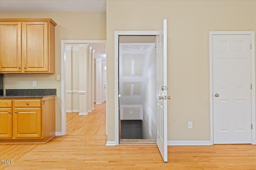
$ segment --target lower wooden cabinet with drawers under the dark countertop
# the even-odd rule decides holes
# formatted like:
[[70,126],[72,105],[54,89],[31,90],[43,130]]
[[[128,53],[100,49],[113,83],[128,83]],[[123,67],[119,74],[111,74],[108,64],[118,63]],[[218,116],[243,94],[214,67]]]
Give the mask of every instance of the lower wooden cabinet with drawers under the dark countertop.
[[54,136],[55,96],[1,99],[1,143],[44,143]]

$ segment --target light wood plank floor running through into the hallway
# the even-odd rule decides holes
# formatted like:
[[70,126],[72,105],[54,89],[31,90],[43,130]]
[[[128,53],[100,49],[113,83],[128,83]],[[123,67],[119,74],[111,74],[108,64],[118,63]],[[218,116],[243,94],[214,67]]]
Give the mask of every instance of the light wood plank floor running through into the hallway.
[[156,145],[106,147],[106,104],[88,115],[67,113],[67,135],[46,144],[1,144],[8,170],[256,170],[255,145],[168,146],[168,163]]

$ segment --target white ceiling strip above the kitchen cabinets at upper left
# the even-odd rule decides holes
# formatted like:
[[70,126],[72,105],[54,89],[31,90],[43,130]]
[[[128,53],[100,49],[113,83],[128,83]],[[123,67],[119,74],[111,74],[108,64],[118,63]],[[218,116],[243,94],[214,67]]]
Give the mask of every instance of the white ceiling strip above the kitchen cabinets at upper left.
[[106,12],[106,0],[0,0],[0,12]]

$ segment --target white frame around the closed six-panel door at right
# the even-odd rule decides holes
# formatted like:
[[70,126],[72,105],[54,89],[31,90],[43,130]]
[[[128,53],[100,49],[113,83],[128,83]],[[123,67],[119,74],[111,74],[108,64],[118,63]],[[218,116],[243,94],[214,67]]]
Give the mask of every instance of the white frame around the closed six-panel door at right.
[[252,123],[252,144],[256,145],[256,113],[255,113],[255,43],[254,31],[210,31],[209,33],[209,64],[210,64],[210,143],[213,145],[213,68],[212,68],[212,41],[213,35],[250,35],[251,37],[251,123]]

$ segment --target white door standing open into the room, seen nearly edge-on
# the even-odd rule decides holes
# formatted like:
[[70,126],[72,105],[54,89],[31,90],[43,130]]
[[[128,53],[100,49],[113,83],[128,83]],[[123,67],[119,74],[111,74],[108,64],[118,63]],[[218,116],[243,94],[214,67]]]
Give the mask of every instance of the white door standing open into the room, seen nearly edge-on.
[[164,20],[162,33],[156,36],[156,94],[156,143],[164,162],[167,162],[167,20]]

